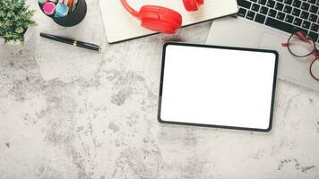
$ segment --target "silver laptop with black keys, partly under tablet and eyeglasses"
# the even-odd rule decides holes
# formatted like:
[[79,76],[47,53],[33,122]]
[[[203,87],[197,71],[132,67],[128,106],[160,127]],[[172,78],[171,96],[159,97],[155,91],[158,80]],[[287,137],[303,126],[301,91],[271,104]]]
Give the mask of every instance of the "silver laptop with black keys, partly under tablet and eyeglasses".
[[294,29],[305,31],[319,45],[319,0],[238,0],[237,18],[212,22],[206,43],[218,46],[257,47],[279,52],[278,78],[319,91],[309,73],[314,55],[297,58],[281,43]]

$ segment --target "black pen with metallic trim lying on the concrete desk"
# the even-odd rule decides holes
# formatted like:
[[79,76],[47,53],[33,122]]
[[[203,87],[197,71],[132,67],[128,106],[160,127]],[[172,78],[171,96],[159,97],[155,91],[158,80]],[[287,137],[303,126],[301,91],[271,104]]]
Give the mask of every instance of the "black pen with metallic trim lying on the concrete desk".
[[63,38],[63,37],[59,37],[59,36],[55,36],[55,35],[51,35],[51,34],[47,34],[47,33],[40,33],[40,36],[43,38],[48,38],[48,39],[52,39],[58,42],[62,42],[65,44],[70,44],[76,47],[83,47],[86,49],[90,49],[90,50],[95,50],[95,51],[100,51],[100,47],[95,45],[95,44],[91,44],[91,43],[86,43],[86,42],[82,42],[82,41],[77,41],[71,38]]

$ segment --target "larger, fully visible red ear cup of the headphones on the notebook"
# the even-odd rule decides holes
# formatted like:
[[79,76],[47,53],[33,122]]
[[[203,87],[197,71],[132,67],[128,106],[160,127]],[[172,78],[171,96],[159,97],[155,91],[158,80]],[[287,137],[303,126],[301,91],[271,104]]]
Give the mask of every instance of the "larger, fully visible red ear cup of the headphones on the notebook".
[[173,34],[182,26],[182,15],[174,10],[144,5],[139,12],[142,27],[161,33]]

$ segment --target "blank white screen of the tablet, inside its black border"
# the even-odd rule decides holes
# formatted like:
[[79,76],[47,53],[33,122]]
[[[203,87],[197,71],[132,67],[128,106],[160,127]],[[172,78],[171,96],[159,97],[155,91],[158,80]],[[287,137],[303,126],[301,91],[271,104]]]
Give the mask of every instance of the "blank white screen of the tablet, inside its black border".
[[267,130],[276,55],[168,45],[160,120]]

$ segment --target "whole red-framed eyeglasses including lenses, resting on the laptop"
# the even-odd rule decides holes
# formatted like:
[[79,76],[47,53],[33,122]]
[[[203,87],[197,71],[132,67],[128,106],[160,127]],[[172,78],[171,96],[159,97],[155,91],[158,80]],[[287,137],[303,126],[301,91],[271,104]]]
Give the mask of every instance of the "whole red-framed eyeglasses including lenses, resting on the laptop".
[[282,43],[282,47],[288,47],[289,52],[297,57],[307,57],[315,55],[315,59],[311,62],[309,72],[311,76],[319,81],[319,51],[315,47],[315,41],[303,31],[297,30],[293,32],[287,43]]

